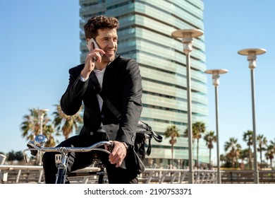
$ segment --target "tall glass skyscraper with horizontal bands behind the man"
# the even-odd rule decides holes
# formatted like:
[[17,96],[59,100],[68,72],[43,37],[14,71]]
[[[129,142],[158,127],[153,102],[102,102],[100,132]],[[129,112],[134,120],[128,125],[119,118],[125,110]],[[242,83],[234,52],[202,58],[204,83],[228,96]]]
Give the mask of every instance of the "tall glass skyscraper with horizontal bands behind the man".
[[[181,39],[171,37],[179,29],[204,30],[202,0],[80,0],[80,59],[87,48],[83,26],[95,15],[114,16],[118,28],[118,54],[136,59],[142,75],[142,117],[164,137],[166,128],[176,125],[181,137],[174,145],[174,165],[188,160],[187,92],[185,54]],[[191,63],[192,120],[207,125],[207,76],[204,74],[204,36],[194,39]],[[169,138],[162,143],[152,140],[147,165],[166,168],[171,164]],[[200,162],[209,162],[209,151],[200,140]],[[196,159],[196,141],[193,159]],[[186,165],[186,164],[185,164]]]

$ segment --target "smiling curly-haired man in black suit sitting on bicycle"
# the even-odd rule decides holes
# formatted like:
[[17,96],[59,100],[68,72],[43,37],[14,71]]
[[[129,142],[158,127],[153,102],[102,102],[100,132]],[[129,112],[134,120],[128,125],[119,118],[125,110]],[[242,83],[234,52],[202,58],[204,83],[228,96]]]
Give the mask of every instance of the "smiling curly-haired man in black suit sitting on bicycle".
[[[94,16],[85,24],[90,52],[85,64],[69,70],[68,88],[61,98],[61,108],[66,115],[75,115],[84,105],[83,127],[79,135],[59,146],[85,147],[98,141],[112,141],[114,148],[109,156],[98,153],[106,166],[109,183],[138,183],[133,146],[142,112],[142,80],[137,62],[116,54],[118,26],[116,18],[106,16]],[[96,43],[89,42],[92,38]],[[94,74],[106,98],[121,113],[121,119],[118,120],[97,94],[91,80]],[[92,155],[93,152],[71,153],[68,171],[89,166]],[[45,182],[54,183],[57,171],[54,153],[44,153],[43,167]]]

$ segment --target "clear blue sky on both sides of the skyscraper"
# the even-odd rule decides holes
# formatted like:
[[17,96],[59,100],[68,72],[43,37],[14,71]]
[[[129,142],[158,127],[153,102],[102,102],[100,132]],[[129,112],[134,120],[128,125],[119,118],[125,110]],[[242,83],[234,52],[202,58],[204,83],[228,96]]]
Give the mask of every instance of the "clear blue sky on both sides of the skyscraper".
[[[255,69],[257,134],[274,140],[275,1],[204,1],[207,69],[227,69],[219,86],[220,153],[230,137],[243,148],[252,130],[250,70],[239,50],[264,48]],[[20,123],[30,108],[49,115],[80,62],[78,1],[0,1],[0,151],[22,151]],[[191,62],[192,64],[192,62]],[[207,75],[207,74],[205,74]],[[212,76],[208,75],[209,127],[216,130]],[[216,153],[213,153],[215,155]]]

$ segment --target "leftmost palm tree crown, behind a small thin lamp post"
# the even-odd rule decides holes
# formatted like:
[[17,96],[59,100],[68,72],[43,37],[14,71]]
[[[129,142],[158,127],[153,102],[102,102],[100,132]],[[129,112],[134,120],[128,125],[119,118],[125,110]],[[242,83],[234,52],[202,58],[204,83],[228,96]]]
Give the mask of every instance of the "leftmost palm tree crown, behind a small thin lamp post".
[[[30,115],[23,116],[24,121],[20,124],[20,128],[23,131],[22,136],[27,140],[34,140],[35,136],[40,134],[40,115],[39,109],[30,109]],[[44,115],[42,121],[42,132],[48,138],[48,146],[54,146],[54,128],[49,124],[51,120],[47,117],[47,113]]]

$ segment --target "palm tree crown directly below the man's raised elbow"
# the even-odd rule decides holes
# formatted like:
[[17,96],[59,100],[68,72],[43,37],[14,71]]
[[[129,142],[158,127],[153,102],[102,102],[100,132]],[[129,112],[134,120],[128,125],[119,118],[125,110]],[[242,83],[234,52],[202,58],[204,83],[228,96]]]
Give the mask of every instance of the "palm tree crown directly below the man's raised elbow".
[[54,127],[56,127],[58,132],[62,131],[65,139],[68,139],[69,135],[78,129],[78,124],[83,122],[82,117],[79,114],[82,108],[80,107],[80,110],[75,115],[68,116],[63,113],[60,105],[54,106],[56,107],[56,111],[53,112]]

